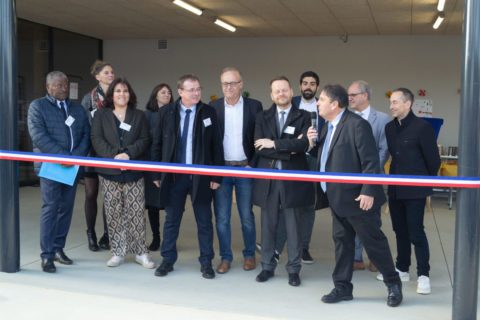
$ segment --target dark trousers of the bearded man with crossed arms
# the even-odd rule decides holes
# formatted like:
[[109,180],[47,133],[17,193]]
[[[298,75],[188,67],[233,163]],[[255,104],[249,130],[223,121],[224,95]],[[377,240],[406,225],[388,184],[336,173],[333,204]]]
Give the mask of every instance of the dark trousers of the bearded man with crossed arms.
[[273,271],[277,262],[273,259],[276,234],[279,221],[285,221],[285,230],[287,234],[288,262],[286,269],[288,273],[299,273],[301,269],[301,236],[300,236],[300,217],[297,209],[282,209],[281,190],[283,182],[273,180],[268,194],[267,207],[262,208],[262,269]]

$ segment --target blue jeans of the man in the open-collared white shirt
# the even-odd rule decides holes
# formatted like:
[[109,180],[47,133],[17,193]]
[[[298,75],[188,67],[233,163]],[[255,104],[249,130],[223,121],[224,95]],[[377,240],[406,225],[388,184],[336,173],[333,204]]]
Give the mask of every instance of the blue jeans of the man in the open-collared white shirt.
[[232,191],[235,186],[237,209],[240,214],[243,234],[243,256],[255,257],[255,217],[252,211],[253,181],[248,178],[225,177],[217,191],[215,191],[215,221],[218,242],[220,243],[220,256],[222,260],[232,261],[232,232],[230,217],[232,215]]

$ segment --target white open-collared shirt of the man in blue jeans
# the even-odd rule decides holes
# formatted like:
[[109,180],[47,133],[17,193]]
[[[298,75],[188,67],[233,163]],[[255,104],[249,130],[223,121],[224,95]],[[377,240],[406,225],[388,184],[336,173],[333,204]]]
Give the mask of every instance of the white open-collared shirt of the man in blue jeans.
[[234,105],[225,102],[225,133],[223,135],[223,153],[225,161],[247,159],[243,150],[243,98]]

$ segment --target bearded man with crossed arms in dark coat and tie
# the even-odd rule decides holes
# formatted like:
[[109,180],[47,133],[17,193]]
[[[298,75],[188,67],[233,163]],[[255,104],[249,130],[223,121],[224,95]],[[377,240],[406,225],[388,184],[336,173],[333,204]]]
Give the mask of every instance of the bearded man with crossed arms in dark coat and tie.
[[[258,168],[278,170],[308,170],[305,151],[306,131],[310,115],[292,107],[293,91],[286,77],[270,82],[273,105],[258,114],[255,122],[255,148]],[[288,246],[288,283],[300,285],[301,235],[298,208],[313,205],[313,184],[310,182],[257,179],[254,182],[253,203],[262,208],[262,272],[258,282],[274,275],[275,235],[278,221],[285,219]]]

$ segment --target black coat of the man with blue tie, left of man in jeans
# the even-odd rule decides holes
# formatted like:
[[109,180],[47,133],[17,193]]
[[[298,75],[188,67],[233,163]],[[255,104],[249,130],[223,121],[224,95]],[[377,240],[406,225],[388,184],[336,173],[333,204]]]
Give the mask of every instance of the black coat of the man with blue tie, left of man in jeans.
[[[163,106],[158,112],[158,126],[154,130],[152,145],[152,160],[161,162],[176,162],[177,142],[180,135],[180,99]],[[205,126],[204,120],[210,119],[211,124]],[[201,165],[223,166],[223,144],[218,130],[218,120],[215,110],[208,104],[199,102],[195,112],[192,141],[192,163]],[[161,203],[169,203],[169,190],[175,182],[175,174],[157,173],[155,179],[161,180]],[[221,183],[222,177],[192,176],[192,203],[209,204],[213,190],[210,182]]]

